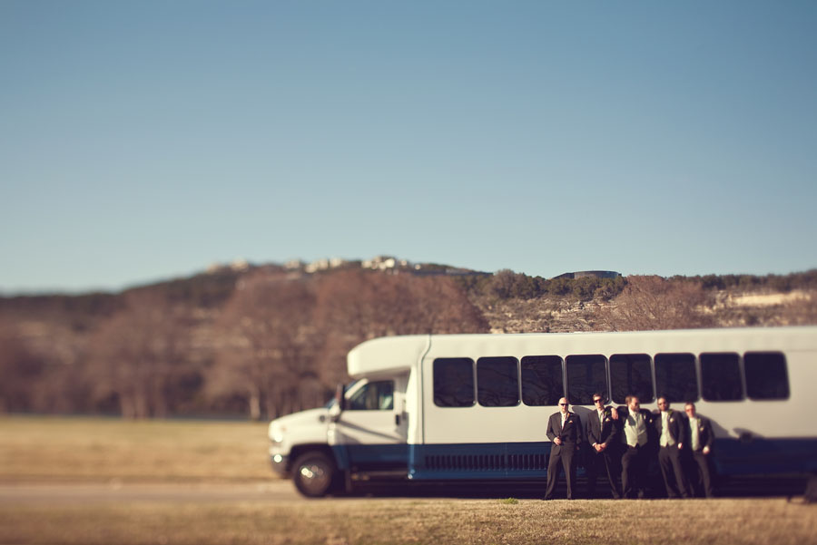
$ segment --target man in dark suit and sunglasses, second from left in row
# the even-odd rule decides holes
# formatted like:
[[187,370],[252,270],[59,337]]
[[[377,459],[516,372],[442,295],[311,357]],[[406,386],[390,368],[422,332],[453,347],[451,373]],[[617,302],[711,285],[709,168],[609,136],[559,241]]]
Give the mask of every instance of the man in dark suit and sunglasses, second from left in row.
[[587,443],[590,443],[590,455],[587,460],[587,496],[593,497],[596,492],[596,478],[602,472],[610,483],[610,492],[614,500],[618,493],[617,464],[615,451],[618,448],[617,425],[612,407],[605,407],[602,394],[593,394],[596,411],[587,415]]

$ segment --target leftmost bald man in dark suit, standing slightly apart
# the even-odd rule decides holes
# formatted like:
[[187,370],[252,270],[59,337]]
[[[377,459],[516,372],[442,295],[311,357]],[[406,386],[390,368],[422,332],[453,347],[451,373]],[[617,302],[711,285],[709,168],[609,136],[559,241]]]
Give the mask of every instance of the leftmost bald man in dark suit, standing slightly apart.
[[547,438],[553,444],[550,447],[550,460],[547,462],[546,500],[553,499],[562,469],[565,470],[567,479],[567,499],[573,500],[573,484],[576,482],[574,455],[582,441],[582,421],[577,414],[567,410],[568,406],[565,397],[560,399],[559,412],[552,414],[547,421]]

